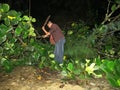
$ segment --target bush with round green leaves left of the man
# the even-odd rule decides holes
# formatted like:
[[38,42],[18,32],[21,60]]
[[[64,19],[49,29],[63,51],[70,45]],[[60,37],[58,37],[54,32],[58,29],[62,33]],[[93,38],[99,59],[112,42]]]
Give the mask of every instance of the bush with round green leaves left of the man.
[[31,16],[10,10],[8,4],[0,4],[0,66],[7,72],[16,65],[28,63],[29,59],[38,60],[40,51],[36,48],[32,26],[35,21]]

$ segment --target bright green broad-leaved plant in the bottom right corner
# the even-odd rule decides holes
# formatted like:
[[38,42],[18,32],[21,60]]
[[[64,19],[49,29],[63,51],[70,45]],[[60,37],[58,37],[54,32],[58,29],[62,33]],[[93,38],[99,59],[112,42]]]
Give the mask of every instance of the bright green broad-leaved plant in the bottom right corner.
[[100,68],[105,72],[109,83],[114,87],[120,87],[120,60],[102,60]]

